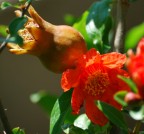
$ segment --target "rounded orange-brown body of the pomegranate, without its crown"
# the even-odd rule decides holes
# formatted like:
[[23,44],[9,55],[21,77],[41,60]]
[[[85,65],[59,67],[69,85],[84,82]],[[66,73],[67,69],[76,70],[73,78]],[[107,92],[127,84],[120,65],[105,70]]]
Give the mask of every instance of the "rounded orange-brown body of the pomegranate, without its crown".
[[39,56],[51,71],[61,73],[75,68],[77,59],[86,52],[86,44],[79,32],[69,26],[56,26],[49,49]]

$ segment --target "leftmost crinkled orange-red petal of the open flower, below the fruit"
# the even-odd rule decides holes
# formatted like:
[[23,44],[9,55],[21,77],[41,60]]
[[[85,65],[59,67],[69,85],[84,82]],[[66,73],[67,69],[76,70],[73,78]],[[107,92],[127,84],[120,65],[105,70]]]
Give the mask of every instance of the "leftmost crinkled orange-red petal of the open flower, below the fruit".
[[65,72],[63,72],[61,78],[62,89],[66,92],[70,88],[75,87],[79,82],[79,75],[80,72],[77,69],[76,70],[67,69]]

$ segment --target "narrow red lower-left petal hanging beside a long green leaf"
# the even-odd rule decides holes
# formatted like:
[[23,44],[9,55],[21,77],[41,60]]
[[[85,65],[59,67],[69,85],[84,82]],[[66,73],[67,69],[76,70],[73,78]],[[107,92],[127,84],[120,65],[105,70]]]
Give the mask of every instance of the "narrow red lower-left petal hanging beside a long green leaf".
[[85,99],[85,95],[83,94],[82,89],[79,87],[74,88],[72,94],[72,100],[71,100],[73,114],[79,113],[80,108],[83,105],[84,99]]

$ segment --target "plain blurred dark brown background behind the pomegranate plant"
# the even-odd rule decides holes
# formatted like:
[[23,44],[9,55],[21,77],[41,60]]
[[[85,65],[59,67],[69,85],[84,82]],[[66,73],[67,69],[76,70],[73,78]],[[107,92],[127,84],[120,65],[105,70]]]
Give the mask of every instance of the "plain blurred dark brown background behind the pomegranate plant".
[[[39,0],[33,2],[37,12],[53,24],[64,24],[64,15],[79,17],[95,0]],[[0,0],[2,2],[2,0]],[[0,24],[8,25],[14,9],[0,12]],[[144,0],[131,4],[127,14],[127,29],[144,21]],[[0,55],[0,98],[7,109],[12,127],[24,128],[27,134],[48,133],[45,113],[31,103],[29,96],[39,90],[60,95],[60,76],[46,70],[40,61],[29,55],[12,55],[7,49]],[[2,124],[0,124],[0,128]]]

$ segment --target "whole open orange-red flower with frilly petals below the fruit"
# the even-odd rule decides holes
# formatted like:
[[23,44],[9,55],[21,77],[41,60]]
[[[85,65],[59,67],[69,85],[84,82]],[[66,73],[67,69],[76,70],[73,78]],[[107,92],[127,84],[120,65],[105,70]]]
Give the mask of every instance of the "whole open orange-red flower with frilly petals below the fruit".
[[123,54],[112,52],[100,55],[93,48],[78,60],[75,69],[68,69],[63,73],[63,90],[74,88],[71,100],[74,114],[78,114],[84,104],[89,119],[103,126],[108,119],[95,105],[96,100],[121,109],[113,95],[119,90],[128,90],[128,86],[117,78],[118,74],[128,76],[127,72],[121,69],[125,61]]

